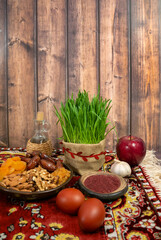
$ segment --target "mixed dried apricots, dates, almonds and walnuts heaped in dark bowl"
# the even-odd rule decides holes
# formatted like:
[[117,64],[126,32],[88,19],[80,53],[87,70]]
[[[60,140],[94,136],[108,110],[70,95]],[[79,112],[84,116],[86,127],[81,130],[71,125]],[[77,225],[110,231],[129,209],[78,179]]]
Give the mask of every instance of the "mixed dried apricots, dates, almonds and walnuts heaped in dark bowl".
[[38,151],[25,157],[8,158],[0,167],[0,186],[35,192],[53,189],[66,182],[70,171],[59,160]]

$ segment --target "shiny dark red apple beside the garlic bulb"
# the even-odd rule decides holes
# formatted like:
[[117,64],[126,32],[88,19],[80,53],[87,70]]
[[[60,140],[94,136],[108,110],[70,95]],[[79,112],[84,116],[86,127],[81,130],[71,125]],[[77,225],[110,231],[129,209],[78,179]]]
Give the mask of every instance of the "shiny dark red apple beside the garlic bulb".
[[146,154],[146,146],[141,138],[124,136],[116,145],[119,160],[127,162],[131,167],[140,164]]

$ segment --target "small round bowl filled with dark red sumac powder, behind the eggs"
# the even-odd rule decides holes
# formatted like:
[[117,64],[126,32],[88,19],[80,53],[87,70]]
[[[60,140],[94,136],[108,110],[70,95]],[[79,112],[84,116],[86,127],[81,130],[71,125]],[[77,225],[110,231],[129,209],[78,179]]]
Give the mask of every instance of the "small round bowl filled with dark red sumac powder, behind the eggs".
[[112,201],[122,197],[128,190],[128,184],[121,176],[110,172],[90,172],[79,179],[81,190],[89,197],[102,201]]

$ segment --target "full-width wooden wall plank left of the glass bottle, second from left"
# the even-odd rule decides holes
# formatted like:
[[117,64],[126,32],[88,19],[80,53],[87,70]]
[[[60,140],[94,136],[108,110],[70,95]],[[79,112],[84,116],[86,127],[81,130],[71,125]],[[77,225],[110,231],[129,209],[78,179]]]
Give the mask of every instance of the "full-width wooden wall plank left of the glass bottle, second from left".
[[9,144],[25,147],[33,134],[34,0],[8,0]]

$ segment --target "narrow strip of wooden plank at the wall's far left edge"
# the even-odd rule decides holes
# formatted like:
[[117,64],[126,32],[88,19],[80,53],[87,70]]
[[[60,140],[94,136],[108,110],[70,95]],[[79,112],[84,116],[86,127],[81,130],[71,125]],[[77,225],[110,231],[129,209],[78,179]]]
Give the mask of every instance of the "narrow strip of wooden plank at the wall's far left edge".
[[6,4],[0,0],[0,141],[8,145],[6,67]]

